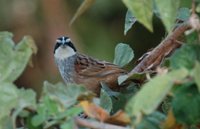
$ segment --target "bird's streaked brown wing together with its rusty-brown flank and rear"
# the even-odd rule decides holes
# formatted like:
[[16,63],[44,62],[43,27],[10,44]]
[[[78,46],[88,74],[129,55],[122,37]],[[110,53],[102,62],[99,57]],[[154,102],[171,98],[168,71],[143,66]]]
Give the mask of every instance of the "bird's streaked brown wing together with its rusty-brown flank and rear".
[[93,91],[97,95],[100,94],[100,82],[105,82],[112,90],[120,89],[117,78],[125,74],[125,70],[114,64],[99,61],[82,54],[77,54],[75,63],[77,75],[74,81],[76,83],[84,84],[87,89]]

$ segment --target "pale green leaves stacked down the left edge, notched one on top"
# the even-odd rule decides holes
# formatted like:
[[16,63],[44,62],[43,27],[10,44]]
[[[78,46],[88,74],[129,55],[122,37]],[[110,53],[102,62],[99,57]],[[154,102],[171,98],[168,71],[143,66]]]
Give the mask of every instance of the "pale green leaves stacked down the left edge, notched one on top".
[[[24,71],[31,55],[36,51],[33,40],[24,37],[17,45],[12,34],[0,33],[0,128],[15,128],[18,115],[25,109],[36,108],[36,93],[33,90],[18,89],[14,84]],[[9,116],[12,112],[12,116]],[[11,124],[12,123],[12,124]]]

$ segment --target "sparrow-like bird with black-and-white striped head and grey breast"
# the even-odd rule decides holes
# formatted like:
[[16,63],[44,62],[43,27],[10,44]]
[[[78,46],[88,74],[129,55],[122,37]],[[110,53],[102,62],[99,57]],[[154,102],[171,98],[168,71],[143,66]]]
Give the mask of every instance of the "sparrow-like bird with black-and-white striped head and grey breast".
[[101,82],[111,90],[119,91],[118,77],[127,74],[121,67],[81,54],[71,39],[66,36],[57,38],[54,59],[65,84],[82,84],[86,89],[100,94]]

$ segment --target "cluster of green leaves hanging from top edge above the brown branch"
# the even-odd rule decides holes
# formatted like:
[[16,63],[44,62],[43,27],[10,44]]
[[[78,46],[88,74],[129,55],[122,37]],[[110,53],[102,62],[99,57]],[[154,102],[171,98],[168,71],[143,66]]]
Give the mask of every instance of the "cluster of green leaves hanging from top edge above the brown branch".
[[[152,19],[153,13],[155,13],[162,20],[168,32],[172,30],[177,15],[179,14],[177,11],[181,7],[181,3],[185,1],[187,0],[123,0],[134,17],[147,29],[153,31]],[[185,10],[181,10],[180,12],[182,14],[178,16],[187,17],[189,11],[185,8]]]

